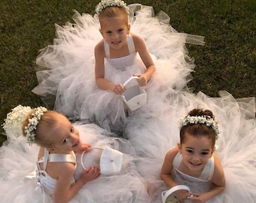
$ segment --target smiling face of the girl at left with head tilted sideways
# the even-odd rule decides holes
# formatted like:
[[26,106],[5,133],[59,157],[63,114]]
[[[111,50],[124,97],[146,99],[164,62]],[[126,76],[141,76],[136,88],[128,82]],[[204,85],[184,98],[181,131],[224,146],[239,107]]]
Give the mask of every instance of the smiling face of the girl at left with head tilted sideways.
[[57,127],[50,132],[50,136],[53,141],[52,147],[50,147],[50,152],[70,153],[70,151],[81,147],[82,143],[79,138],[78,130],[75,129],[66,117],[61,114],[57,117]]

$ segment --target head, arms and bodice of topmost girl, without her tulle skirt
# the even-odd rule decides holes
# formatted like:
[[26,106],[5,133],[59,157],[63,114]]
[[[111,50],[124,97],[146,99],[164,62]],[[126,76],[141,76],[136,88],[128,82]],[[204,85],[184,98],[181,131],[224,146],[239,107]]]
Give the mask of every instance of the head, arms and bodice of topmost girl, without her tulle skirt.
[[145,86],[155,71],[154,62],[148,53],[145,42],[138,35],[130,33],[128,14],[129,8],[123,1],[103,0],[96,6],[96,15],[99,17],[100,23],[99,32],[103,37],[95,47],[96,84],[100,89],[111,90],[116,95],[121,95],[125,91],[125,87],[123,83],[109,81],[105,78],[105,59],[113,65],[118,64],[116,68],[121,71],[126,71],[126,68],[133,65],[136,53],[139,53],[146,70],[143,68],[139,70],[138,67],[138,70],[127,70],[126,72],[130,72],[129,76],[139,76],[137,81],[140,86]]

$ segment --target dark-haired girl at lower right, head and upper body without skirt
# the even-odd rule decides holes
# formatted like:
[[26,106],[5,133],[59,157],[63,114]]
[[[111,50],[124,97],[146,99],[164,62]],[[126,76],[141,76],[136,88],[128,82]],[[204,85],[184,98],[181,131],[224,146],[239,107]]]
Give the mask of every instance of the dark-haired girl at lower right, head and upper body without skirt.
[[169,150],[161,178],[166,186],[186,185],[190,192],[178,190],[178,201],[206,202],[224,190],[225,177],[215,155],[218,126],[212,111],[194,109],[181,120],[180,144]]

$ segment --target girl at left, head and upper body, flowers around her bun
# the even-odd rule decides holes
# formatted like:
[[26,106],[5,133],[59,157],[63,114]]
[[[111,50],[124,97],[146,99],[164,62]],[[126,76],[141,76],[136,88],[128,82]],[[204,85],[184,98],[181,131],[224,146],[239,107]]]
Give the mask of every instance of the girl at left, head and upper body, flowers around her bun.
[[8,114],[4,129],[8,132],[15,122],[21,125],[29,144],[40,146],[36,176],[42,190],[54,202],[70,201],[84,184],[99,177],[99,168],[91,167],[74,180],[75,153],[88,150],[90,144],[81,142],[78,130],[62,114],[43,107],[31,109],[19,105]]

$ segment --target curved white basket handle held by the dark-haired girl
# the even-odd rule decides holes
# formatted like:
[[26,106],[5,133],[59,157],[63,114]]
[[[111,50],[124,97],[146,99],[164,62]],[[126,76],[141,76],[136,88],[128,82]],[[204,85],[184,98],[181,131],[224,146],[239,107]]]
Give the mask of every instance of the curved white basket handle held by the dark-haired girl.
[[[190,192],[190,188],[185,185],[178,185],[174,186],[171,189],[168,189],[166,191],[162,192],[162,203],[178,203],[180,201],[177,200],[174,196],[174,192],[180,189],[187,190],[187,192]],[[183,201],[184,203],[187,202],[187,200]]]

